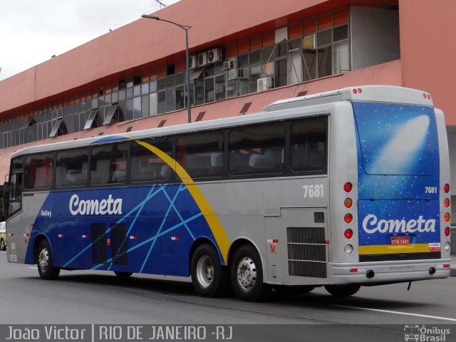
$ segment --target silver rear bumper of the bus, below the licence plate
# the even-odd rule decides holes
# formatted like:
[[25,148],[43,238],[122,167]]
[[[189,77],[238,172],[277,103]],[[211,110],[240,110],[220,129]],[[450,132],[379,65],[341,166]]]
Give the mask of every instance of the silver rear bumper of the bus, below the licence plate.
[[328,264],[330,284],[393,284],[450,276],[450,259]]

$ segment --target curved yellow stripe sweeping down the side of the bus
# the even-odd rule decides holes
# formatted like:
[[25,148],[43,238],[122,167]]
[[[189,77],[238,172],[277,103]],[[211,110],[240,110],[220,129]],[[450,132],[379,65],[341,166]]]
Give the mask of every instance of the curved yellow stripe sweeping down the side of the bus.
[[201,190],[199,190],[199,187],[197,187],[195,182],[193,182],[188,172],[185,171],[185,169],[176,160],[172,159],[170,155],[167,155],[159,148],[152,146],[147,142],[142,142],[139,140],[137,140],[136,142],[138,142],[139,145],[147,148],[147,150],[150,150],[152,153],[157,155],[157,157],[166,162],[166,164],[169,167],[171,167],[172,170],[174,170],[180,177],[180,179],[190,192],[190,195],[192,195],[193,199],[195,199],[195,202],[197,203],[204,218],[206,219],[207,224],[209,224],[209,228],[211,229],[212,234],[214,234],[214,237],[217,241],[220,252],[222,253],[222,257],[226,264],[228,261],[229,250],[229,239],[227,237],[227,234],[225,234],[222,224],[219,222],[219,219],[215,215],[214,210],[212,210],[212,207],[209,205],[209,202],[207,202],[207,199],[204,197],[204,195],[202,195]]

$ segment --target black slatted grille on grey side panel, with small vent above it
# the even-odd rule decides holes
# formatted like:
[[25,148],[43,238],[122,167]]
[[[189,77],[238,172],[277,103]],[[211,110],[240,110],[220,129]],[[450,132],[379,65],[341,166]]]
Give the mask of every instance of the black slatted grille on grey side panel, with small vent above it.
[[326,278],[324,227],[287,227],[286,239],[290,276]]

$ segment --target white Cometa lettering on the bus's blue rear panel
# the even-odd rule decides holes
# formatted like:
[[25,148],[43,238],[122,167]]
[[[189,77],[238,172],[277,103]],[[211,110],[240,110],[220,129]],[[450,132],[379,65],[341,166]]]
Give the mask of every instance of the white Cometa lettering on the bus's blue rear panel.
[[363,229],[368,234],[379,233],[425,233],[435,232],[435,219],[378,219],[374,214],[368,214],[363,219]]

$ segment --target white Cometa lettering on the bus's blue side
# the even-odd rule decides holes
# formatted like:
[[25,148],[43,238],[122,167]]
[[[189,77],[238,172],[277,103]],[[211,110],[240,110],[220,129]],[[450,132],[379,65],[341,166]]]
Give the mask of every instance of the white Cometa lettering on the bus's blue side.
[[70,212],[73,216],[80,215],[104,215],[122,214],[122,199],[113,199],[113,195],[108,195],[107,199],[79,199],[78,195],[71,196]]

